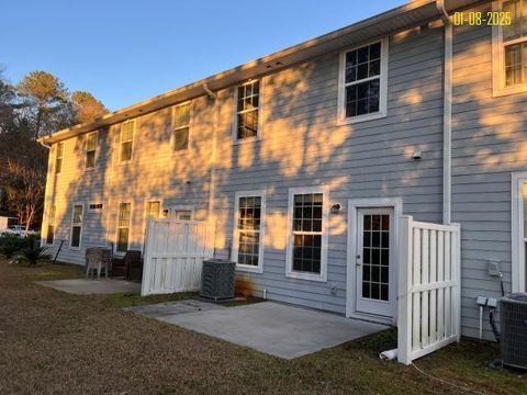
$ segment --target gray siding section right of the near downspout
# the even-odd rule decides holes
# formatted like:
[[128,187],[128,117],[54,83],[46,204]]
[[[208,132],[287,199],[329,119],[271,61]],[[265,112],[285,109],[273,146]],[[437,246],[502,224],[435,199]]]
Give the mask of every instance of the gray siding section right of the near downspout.
[[[462,228],[462,330],[478,336],[475,298],[501,296],[489,260],[501,263],[511,292],[511,173],[527,170],[527,94],[492,97],[489,26],[456,27],[453,59],[452,221]],[[483,328],[493,339],[486,314]]]

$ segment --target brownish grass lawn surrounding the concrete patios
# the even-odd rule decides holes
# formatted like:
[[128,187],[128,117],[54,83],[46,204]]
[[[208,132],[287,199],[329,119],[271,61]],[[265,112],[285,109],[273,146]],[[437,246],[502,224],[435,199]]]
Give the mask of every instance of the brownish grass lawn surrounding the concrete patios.
[[416,361],[437,380],[379,360],[393,329],[285,361],[122,309],[192,294],[77,296],[33,283],[81,275],[0,258],[0,394],[527,394],[527,375],[489,368],[490,342]]

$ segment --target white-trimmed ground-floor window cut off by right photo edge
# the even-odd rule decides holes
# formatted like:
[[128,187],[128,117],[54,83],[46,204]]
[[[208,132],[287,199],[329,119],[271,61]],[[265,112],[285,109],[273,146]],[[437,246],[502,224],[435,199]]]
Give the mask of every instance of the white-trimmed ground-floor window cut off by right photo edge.
[[513,292],[526,291],[526,263],[524,235],[524,182],[527,182],[527,171],[512,173],[511,225],[512,225],[512,281]]

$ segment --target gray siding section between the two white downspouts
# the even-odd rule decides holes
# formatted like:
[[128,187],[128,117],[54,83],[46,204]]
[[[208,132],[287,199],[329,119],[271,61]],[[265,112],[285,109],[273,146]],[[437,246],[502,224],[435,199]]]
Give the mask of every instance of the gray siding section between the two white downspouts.
[[[441,30],[391,37],[389,50],[384,119],[337,125],[339,55],[332,54],[262,79],[260,142],[233,146],[229,124],[223,125],[218,151],[231,159],[217,170],[216,206],[226,218],[220,227],[227,238],[233,237],[235,192],[267,192],[264,272],[239,272],[242,287],[260,295],[266,289],[272,300],[344,314],[349,199],[400,196],[404,212],[416,219],[441,219]],[[222,117],[232,114],[225,102]],[[412,160],[414,150],[422,150],[425,160]],[[239,166],[247,157],[250,166]],[[329,214],[327,282],[285,276],[289,189],[312,185],[328,185],[328,204],[343,206],[339,214]],[[226,257],[222,247],[216,245]]]

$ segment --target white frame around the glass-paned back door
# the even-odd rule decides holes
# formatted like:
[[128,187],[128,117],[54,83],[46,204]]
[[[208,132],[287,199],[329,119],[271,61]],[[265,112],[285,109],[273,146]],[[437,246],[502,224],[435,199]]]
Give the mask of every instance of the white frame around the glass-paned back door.
[[[355,263],[355,251],[357,249],[357,218],[359,208],[368,207],[391,207],[393,208],[393,229],[395,248],[393,257],[399,259],[399,227],[400,218],[403,215],[402,198],[371,198],[348,200],[348,239],[346,259],[346,317],[352,317],[357,305],[357,266]],[[395,262],[399,270],[399,261]],[[395,281],[395,284],[397,282]],[[397,295],[397,290],[392,290],[392,295]],[[392,296],[393,297],[393,296]],[[395,313],[396,314],[396,313]]]

